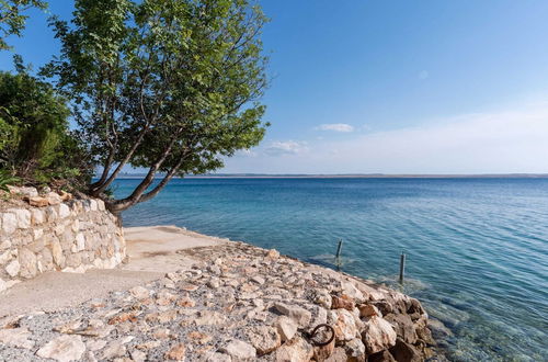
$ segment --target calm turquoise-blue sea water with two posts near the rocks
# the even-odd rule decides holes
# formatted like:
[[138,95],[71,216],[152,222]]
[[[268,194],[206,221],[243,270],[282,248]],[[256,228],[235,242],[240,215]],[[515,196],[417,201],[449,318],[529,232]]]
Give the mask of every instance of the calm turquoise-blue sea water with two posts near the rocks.
[[[127,194],[136,180],[117,182]],[[548,179],[190,179],[123,215],[276,248],[395,284],[455,361],[548,360]]]

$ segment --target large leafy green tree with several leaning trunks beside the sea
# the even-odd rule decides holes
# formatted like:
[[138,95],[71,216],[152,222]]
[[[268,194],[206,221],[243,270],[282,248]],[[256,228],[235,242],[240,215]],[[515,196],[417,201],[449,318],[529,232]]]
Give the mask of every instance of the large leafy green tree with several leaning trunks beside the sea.
[[[55,20],[62,54],[46,73],[75,100],[102,170],[88,192],[118,213],[174,176],[215,170],[258,145],[267,126],[265,22],[249,0],[77,0],[70,24]],[[130,195],[109,200],[126,165],[148,172]]]

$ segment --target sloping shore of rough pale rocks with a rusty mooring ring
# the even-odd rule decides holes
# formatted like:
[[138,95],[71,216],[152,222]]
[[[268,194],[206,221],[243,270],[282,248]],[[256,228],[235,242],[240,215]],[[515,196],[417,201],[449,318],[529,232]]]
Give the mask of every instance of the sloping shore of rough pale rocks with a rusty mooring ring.
[[426,313],[397,291],[243,242],[178,253],[193,262],[153,282],[4,317],[0,359],[436,359]]

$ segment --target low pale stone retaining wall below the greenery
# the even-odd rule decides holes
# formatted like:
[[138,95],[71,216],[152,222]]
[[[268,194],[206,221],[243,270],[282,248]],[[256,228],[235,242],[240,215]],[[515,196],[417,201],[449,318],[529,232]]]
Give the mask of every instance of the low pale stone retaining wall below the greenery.
[[112,269],[125,258],[123,230],[103,201],[50,192],[42,197],[47,206],[36,207],[31,199],[41,196],[32,193],[0,205],[0,291],[47,271]]

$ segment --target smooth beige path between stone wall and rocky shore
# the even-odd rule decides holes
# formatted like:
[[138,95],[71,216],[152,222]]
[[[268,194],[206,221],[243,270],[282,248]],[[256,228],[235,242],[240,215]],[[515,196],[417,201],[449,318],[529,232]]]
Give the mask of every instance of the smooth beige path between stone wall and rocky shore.
[[57,310],[110,292],[156,280],[167,272],[191,267],[195,261],[178,250],[226,242],[174,226],[124,229],[129,262],[112,270],[83,274],[48,272],[22,282],[0,295],[0,317],[34,310]]

